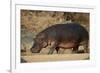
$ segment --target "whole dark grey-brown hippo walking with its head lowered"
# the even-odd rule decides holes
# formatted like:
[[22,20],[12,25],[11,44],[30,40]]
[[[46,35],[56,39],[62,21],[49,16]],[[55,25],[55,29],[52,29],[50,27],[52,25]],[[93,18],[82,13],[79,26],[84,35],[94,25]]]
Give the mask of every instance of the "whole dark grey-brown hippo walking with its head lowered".
[[33,53],[39,53],[42,48],[50,45],[51,47],[48,54],[52,54],[54,50],[58,53],[59,48],[73,48],[72,52],[77,53],[78,47],[84,45],[84,52],[89,52],[88,40],[88,32],[80,24],[56,24],[36,35],[31,51]]

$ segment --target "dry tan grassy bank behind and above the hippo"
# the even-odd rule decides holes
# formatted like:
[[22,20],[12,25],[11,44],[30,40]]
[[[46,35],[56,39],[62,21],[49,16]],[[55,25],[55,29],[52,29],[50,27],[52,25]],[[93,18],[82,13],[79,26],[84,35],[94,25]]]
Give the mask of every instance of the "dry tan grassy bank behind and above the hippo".
[[78,22],[89,29],[89,13],[21,10],[21,25],[35,33],[67,21]]

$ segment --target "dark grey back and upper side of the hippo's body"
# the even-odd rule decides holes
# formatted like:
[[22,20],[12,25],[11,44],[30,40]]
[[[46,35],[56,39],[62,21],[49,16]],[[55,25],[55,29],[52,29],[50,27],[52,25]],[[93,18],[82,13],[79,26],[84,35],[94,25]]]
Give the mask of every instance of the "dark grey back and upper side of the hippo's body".
[[48,27],[43,32],[57,39],[88,39],[87,30],[78,23],[56,24]]

